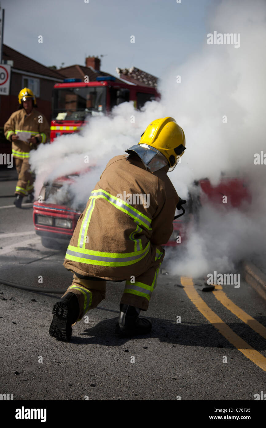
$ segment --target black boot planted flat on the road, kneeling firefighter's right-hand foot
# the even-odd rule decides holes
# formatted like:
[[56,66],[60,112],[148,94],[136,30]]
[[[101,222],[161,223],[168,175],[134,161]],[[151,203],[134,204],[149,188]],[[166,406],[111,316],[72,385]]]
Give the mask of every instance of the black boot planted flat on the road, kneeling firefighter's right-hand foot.
[[140,309],[120,303],[120,316],[115,333],[120,336],[146,334],[152,330],[152,323],[147,318],[139,318]]

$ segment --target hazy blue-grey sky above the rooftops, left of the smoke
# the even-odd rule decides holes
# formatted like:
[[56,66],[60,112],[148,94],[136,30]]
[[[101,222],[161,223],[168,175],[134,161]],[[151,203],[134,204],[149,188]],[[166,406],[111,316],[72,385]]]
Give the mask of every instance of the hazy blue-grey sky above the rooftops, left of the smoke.
[[[85,3],[89,1],[89,3]],[[137,68],[163,77],[206,41],[208,13],[218,0],[1,0],[4,43],[44,65]],[[38,36],[43,43],[38,43]],[[130,36],[135,43],[130,42]]]

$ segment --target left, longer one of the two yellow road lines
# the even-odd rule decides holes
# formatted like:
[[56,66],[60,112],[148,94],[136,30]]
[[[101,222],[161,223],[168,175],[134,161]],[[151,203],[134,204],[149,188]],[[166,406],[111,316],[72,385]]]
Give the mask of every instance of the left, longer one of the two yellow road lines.
[[259,366],[261,369],[266,371],[266,358],[263,357],[258,351],[248,345],[240,336],[234,333],[222,319],[213,312],[204,300],[199,296],[199,293],[193,287],[192,278],[181,276],[181,284],[184,285],[184,291],[194,305],[199,309],[202,315],[210,321],[211,324],[230,342],[235,348],[237,348],[242,354],[245,355],[249,360]]

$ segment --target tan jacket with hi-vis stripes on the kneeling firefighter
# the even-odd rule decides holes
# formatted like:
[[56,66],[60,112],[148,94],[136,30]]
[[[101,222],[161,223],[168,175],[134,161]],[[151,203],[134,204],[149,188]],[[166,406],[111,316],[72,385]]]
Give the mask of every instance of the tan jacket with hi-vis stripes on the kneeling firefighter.
[[65,268],[117,281],[158,265],[179,197],[167,167],[152,173],[139,158],[127,158],[115,156],[105,167],[79,217]]

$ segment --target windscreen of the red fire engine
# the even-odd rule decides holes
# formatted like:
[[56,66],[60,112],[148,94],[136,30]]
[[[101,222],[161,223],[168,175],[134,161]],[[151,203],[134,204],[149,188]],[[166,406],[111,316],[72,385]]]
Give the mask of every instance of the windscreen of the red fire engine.
[[53,119],[83,120],[85,116],[104,113],[106,107],[106,88],[77,87],[54,89]]

